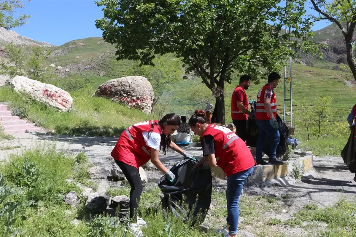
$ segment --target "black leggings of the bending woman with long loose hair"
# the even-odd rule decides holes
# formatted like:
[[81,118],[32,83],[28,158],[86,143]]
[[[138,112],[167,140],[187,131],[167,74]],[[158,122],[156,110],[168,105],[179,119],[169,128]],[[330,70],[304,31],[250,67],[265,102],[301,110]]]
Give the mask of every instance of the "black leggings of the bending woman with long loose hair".
[[116,164],[124,173],[127,181],[131,185],[130,191],[130,221],[137,222],[138,204],[140,203],[142,193],[142,181],[138,169],[134,166],[127,165],[122,161],[115,160]]

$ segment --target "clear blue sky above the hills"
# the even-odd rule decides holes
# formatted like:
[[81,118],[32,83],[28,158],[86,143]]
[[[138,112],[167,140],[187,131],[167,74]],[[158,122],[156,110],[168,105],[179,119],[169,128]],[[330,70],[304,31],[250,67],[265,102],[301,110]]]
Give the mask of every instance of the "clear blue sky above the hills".
[[[33,15],[24,26],[13,30],[21,36],[36,41],[45,41],[62,45],[74,39],[101,37],[101,30],[95,27],[95,20],[103,17],[100,7],[93,0],[27,0],[25,9],[19,13]],[[310,4],[307,4],[310,6]],[[307,14],[313,10],[307,7]],[[316,22],[313,30],[328,26],[330,23]]]

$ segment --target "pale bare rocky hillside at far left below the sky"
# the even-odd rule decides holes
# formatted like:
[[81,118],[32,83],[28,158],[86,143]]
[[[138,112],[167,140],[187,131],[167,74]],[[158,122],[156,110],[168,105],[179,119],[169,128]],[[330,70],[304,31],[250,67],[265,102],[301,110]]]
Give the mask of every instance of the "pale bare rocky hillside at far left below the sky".
[[5,45],[8,43],[14,43],[17,45],[41,45],[47,47],[55,46],[46,42],[39,42],[28,37],[20,36],[15,31],[7,30],[3,27],[0,27],[0,44]]

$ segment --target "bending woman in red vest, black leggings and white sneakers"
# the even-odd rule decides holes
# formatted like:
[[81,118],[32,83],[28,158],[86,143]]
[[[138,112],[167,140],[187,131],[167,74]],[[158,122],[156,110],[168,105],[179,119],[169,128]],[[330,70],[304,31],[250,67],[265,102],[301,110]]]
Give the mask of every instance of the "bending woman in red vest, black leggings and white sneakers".
[[[142,193],[142,182],[138,168],[151,159],[152,164],[166,174],[169,181],[173,182],[174,174],[159,161],[158,152],[163,150],[163,154],[166,155],[168,148],[171,147],[185,157],[193,156],[185,153],[171,141],[171,134],[179,128],[181,123],[178,114],[166,114],[159,121],[150,120],[131,125],[120,135],[111,151],[111,156],[131,185],[131,228],[137,227],[138,203]],[[143,220],[140,220],[140,222],[142,223]]]

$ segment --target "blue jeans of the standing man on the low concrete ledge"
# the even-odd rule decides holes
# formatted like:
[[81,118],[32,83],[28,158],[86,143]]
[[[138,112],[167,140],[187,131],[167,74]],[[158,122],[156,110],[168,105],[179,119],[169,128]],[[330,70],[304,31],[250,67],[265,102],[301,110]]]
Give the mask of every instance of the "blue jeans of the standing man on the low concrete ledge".
[[279,143],[279,131],[272,127],[272,120],[257,120],[258,140],[256,147],[256,160],[262,159],[262,149],[265,146],[267,136],[269,137],[269,158],[276,158],[276,150]]

